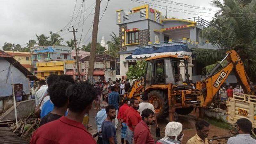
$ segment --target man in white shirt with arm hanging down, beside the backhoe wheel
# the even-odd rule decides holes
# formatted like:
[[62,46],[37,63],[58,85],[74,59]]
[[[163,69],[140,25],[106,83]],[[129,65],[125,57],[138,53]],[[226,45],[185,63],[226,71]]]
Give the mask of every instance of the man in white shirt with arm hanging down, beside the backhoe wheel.
[[[148,102],[148,95],[147,94],[142,95],[142,100],[143,100],[143,102],[139,104],[139,109],[138,109],[138,112],[140,113],[140,116],[141,116],[142,111],[146,108],[151,109],[155,113],[154,106],[151,103]],[[156,124],[156,127],[158,127],[156,115],[155,115],[155,124]]]

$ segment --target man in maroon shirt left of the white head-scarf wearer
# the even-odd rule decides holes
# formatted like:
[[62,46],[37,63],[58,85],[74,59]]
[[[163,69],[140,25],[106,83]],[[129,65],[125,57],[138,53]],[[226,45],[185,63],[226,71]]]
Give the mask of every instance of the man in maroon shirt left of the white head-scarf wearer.
[[151,109],[144,109],[141,113],[142,120],[134,129],[134,144],[155,144],[148,125],[155,121],[154,112]]

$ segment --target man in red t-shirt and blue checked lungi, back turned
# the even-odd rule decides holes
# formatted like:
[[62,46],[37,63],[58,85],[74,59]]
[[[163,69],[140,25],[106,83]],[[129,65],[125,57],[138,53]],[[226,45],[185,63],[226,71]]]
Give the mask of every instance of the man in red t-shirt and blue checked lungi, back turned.
[[[130,106],[128,105],[129,98],[124,97],[123,102],[124,104],[119,108],[117,118],[119,120],[119,123],[121,124],[121,143],[124,144],[124,139],[126,139],[126,130],[127,130],[127,124],[126,124],[126,115],[125,111]],[[128,141],[126,140],[126,144],[128,144]]]

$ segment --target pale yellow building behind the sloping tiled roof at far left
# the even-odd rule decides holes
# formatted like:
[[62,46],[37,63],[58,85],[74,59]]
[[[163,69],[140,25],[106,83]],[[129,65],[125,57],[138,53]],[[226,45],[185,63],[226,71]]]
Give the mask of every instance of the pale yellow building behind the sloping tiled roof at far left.
[[17,51],[4,51],[5,53],[14,57],[15,60],[31,71],[31,53],[30,52],[17,52]]

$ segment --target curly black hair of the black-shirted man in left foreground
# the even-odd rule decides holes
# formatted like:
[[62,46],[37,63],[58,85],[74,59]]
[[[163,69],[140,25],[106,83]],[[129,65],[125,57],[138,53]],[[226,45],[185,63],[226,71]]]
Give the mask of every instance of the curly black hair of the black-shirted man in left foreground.
[[57,81],[48,87],[47,91],[54,106],[62,107],[68,102],[66,89],[70,84],[68,81]]

